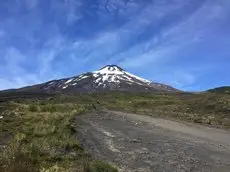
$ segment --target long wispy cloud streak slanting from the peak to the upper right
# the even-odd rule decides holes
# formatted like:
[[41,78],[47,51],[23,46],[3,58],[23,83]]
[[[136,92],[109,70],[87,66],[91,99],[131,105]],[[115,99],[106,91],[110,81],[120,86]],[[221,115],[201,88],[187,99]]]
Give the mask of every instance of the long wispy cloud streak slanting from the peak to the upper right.
[[[215,5],[215,3],[207,3],[203,5],[190,17],[186,18],[186,20],[182,20],[168,28],[164,28],[163,32],[154,35],[147,42],[138,44],[128,51],[117,55],[118,57],[123,57],[120,64],[128,68],[140,68],[150,65],[158,68],[159,63],[171,60],[172,58],[176,61],[177,56],[175,56],[175,53],[178,54],[178,52],[182,52],[185,47],[201,41],[205,34],[211,32],[215,28],[216,19],[224,13],[220,8],[225,8],[224,6],[215,7]],[[206,15],[207,13],[212,13],[212,17]],[[148,19],[147,16],[152,15],[149,14],[146,15],[145,18],[143,17],[144,20],[148,21],[150,18]],[[144,24],[145,23],[147,22],[144,22]],[[141,25],[137,24],[136,28],[138,28],[138,26],[142,27],[143,23]],[[131,26],[128,27],[131,28]],[[134,31],[137,31],[135,30],[135,27]],[[178,57],[180,57],[179,54]]]

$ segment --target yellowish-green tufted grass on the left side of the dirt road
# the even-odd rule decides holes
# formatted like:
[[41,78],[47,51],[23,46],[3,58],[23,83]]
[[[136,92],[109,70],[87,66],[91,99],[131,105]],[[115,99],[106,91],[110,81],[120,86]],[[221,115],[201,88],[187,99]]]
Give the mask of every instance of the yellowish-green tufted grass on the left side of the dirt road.
[[89,111],[90,104],[37,101],[10,102],[7,107],[11,106],[0,121],[3,172],[117,171],[105,162],[96,163],[76,140],[75,116]]

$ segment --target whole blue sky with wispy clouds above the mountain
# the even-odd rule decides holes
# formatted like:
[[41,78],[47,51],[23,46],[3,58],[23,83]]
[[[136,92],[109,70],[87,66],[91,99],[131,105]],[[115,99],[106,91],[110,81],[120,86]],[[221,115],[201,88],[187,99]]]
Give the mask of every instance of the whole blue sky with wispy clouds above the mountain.
[[229,0],[4,0],[0,89],[117,64],[188,91],[230,85]]

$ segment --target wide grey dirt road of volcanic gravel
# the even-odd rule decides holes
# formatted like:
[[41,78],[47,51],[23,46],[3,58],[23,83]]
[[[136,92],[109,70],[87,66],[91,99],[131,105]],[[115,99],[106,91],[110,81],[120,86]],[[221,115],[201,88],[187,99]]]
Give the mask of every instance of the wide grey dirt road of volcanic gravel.
[[76,118],[78,140],[124,172],[229,172],[230,132],[121,112]]

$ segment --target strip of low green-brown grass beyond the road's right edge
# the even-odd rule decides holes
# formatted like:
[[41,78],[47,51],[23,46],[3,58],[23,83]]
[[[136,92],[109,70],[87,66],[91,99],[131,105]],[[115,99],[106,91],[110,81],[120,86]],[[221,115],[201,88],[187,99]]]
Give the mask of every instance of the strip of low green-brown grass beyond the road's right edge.
[[229,94],[110,93],[96,101],[108,109],[230,128]]

